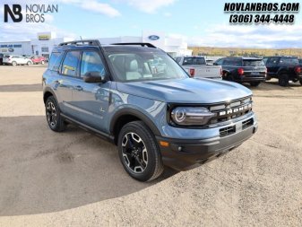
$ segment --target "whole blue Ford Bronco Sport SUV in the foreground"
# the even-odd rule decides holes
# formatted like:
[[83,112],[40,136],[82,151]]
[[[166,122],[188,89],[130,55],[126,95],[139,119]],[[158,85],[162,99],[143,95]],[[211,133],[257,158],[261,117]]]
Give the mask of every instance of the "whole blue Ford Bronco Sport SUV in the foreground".
[[250,90],[189,78],[148,43],[62,43],[43,74],[43,91],[50,129],[73,123],[108,139],[128,174],[141,181],[159,177],[163,165],[187,170],[210,161],[257,129]]

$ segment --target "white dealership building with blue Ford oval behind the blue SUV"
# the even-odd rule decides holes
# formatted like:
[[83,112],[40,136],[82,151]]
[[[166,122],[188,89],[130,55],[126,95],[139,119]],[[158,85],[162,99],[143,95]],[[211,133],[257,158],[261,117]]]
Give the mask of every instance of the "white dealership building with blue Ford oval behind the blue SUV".
[[[0,42],[0,53],[10,55],[39,55],[49,57],[52,49],[61,42],[71,41],[70,38],[56,38],[54,32],[39,32],[36,39],[29,41]],[[142,31],[142,36],[121,36],[114,38],[99,38],[101,44],[125,42],[149,42],[165,50],[171,57],[191,56],[192,50],[187,49],[187,43],[181,38],[166,37],[160,31]]]

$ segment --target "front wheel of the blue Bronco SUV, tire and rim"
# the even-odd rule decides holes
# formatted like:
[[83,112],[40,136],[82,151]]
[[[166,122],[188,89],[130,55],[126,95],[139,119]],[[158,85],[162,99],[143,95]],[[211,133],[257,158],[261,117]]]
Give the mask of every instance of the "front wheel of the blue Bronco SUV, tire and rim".
[[142,121],[127,123],[118,135],[118,155],[125,171],[134,179],[150,181],[163,172],[160,148]]

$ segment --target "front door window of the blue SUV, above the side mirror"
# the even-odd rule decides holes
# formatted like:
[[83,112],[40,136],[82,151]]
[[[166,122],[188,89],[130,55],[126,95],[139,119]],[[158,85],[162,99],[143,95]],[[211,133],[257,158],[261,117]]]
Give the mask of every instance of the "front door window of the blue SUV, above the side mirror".
[[87,72],[99,72],[100,75],[105,75],[104,65],[95,51],[84,51],[82,53],[81,62],[81,77]]

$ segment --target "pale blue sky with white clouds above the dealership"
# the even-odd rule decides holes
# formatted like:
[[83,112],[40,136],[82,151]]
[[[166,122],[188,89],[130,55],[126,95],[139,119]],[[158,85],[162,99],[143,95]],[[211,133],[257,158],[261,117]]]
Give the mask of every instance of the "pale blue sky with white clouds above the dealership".
[[[58,13],[47,13],[44,23],[4,22],[4,4],[22,4],[23,10],[25,4],[38,2],[57,4]],[[141,36],[142,31],[163,31],[168,37],[185,39],[189,46],[302,48],[302,13],[295,14],[293,25],[230,25],[229,13],[223,12],[226,2],[236,1],[2,0],[0,41],[29,40],[43,31],[55,31],[56,37],[73,39]]]

